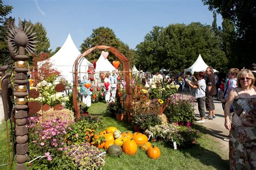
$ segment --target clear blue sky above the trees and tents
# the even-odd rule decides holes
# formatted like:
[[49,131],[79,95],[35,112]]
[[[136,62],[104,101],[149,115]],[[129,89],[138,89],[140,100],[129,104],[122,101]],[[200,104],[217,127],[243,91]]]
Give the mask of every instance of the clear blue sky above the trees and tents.
[[[109,27],[116,37],[135,48],[153,26],[200,22],[211,25],[212,12],[201,0],[3,0],[14,7],[9,16],[32,23],[41,22],[51,49],[62,46],[71,34],[78,49],[83,40],[100,26]],[[222,18],[217,16],[221,26]]]

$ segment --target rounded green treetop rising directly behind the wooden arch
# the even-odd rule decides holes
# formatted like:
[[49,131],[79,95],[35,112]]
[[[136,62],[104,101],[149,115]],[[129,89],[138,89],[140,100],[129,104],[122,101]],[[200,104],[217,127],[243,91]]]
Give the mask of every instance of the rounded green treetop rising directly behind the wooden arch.
[[[134,51],[131,50],[127,44],[124,44],[124,42],[119,40],[113,30],[109,29],[109,27],[101,26],[98,29],[93,29],[91,36],[87,37],[80,46],[80,52],[83,53],[86,49],[96,45],[106,45],[117,48],[120,53],[124,54],[130,60],[133,60]],[[91,55],[86,56],[86,59],[91,62],[93,60],[98,60],[100,53],[100,51],[96,50],[95,52],[92,52]],[[110,61],[116,60],[116,56],[110,53],[108,59]],[[133,62],[131,61],[131,63]]]

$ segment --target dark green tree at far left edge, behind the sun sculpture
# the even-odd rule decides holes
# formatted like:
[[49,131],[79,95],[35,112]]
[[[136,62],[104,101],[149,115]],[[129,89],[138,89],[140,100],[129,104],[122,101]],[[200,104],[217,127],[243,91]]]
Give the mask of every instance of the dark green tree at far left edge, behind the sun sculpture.
[[12,17],[6,17],[12,9],[12,6],[3,5],[2,0],[0,0],[0,66],[13,63],[6,42],[8,39],[8,27],[14,24]]

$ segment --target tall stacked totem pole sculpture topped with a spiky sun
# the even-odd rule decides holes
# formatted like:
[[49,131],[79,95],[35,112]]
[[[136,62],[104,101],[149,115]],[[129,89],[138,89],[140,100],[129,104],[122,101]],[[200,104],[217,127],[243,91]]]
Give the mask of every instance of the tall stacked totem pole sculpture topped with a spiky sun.
[[21,19],[19,19],[19,27],[16,25],[9,29],[8,46],[11,57],[15,62],[13,67],[15,70],[15,119],[16,119],[16,161],[17,169],[26,169],[25,162],[28,160],[29,144],[28,144],[28,126],[26,125],[26,117],[28,116],[28,101],[26,85],[28,83],[28,65],[26,60],[29,55],[34,53],[35,45],[38,41],[36,33],[33,33],[32,25],[22,28]]

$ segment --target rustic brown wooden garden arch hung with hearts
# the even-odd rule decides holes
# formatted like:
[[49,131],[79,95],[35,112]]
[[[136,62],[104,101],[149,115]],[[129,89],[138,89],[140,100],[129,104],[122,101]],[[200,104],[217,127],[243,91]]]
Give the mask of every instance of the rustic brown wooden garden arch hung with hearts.
[[76,59],[76,61],[73,64],[73,105],[76,112],[76,121],[80,117],[80,108],[78,106],[77,102],[77,87],[78,87],[78,63],[83,60],[83,58],[90,54],[95,49],[108,49],[111,51],[114,55],[117,56],[119,60],[121,60],[123,65],[123,71],[124,71],[124,81],[126,82],[125,90],[126,90],[126,99],[125,99],[125,107],[126,110],[129,110],[130,107],[130,98],[131,98],[131,89],[130,89],[130,60],[126,58],[122,53],[120,53],[116,48],[110,47],[110,46],[104,46],[104,45],[97,45],[94,47],[91,47],[90,49],[87,49],[83,54],[79,55]]

